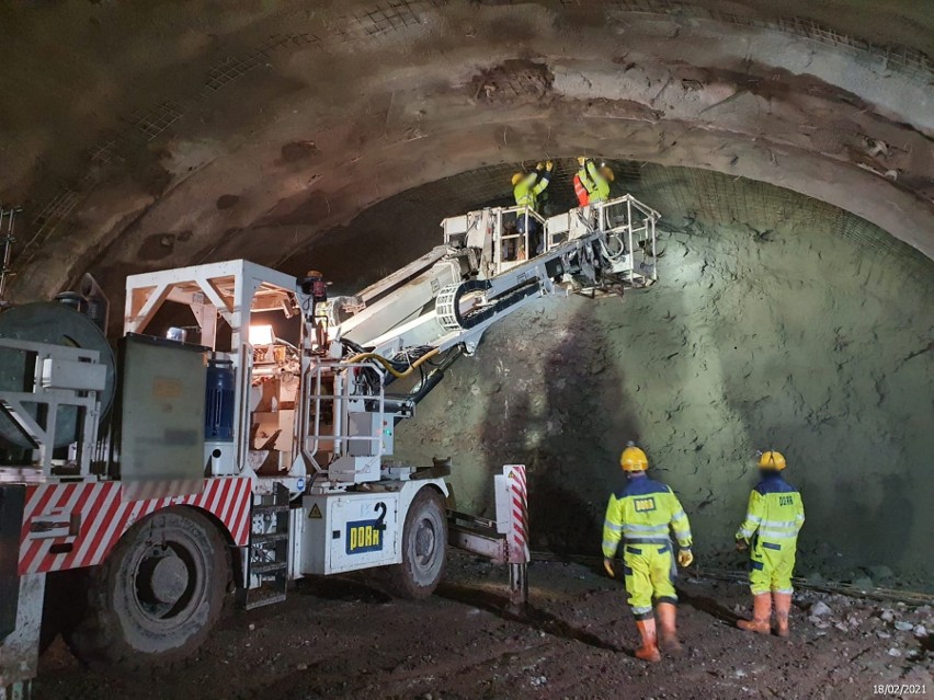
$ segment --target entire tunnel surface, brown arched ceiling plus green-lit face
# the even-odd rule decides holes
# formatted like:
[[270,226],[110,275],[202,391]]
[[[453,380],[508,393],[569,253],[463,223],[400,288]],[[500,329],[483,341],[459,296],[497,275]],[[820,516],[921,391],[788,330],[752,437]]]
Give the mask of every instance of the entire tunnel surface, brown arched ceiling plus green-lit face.
[[775,448],[808,508],[799,573],[930,588],[934,38],[924,3],[872,27],[862,4],[4,8],[10,296],[90,271],[118,308],[127,274],[235,257],[350,294],[509,203],[516,170],[554,160],[560,211],[574,158],[603,158],[662,213],[659,284],[494,326],[397,458],[451,455],[488,515],[490,475],[525,462],[534,546],[592,553],[636,440],[700,556],[737,566]]

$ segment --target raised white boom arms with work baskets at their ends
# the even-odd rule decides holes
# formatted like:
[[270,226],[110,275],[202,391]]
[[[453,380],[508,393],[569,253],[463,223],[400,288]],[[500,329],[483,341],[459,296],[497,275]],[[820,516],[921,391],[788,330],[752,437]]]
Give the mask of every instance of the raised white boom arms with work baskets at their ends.
[[[459,348],[470,355],[488,328],[538,297],[622,295],[627,286],[650,285],[658,218],[626,195],[548,220],[524,208],[445,219],[446,245],[331,303],[331,340],[350,345],[357,359],[390,368],[390,377],[429,354]],[[526,259],[536,233],[542,252]]]

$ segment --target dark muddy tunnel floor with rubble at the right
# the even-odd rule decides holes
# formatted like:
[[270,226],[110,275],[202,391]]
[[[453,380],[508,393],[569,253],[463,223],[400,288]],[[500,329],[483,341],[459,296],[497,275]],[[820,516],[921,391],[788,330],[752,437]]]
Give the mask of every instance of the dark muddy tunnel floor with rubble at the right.
[[934,690],[930,606],[799,592],[785,641],[732,627],[747,612],[744,585],[687,575],[679,584],[685,653],[650,666],[633,656],[636,630],[615,581],[577,563],[535,562],[529,582],[531,609],[520,613],[505,605],[503,567],[456,552],[424,601],[392,599],[363,576],[300,581],[283,605],[231,610],[190,665],[152,678],[87,672],[57,640],[35,697],[729,700],[870,698],[886,684]]

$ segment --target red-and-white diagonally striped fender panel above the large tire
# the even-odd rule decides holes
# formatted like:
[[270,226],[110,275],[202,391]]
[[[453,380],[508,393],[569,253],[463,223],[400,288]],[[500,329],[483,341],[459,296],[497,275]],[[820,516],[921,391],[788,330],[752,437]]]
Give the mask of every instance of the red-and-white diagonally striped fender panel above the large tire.
[[[138,489],[113,481],[29,487],[20,533],[20,575],[100,564],[135,523],[176,505],[213,514],[236,544],[246,546],[251,480],[215,478],[198,485],[203,485],[201,493],[156,498],[136,497]],[[163,493],[168,490],[159,487]]]

